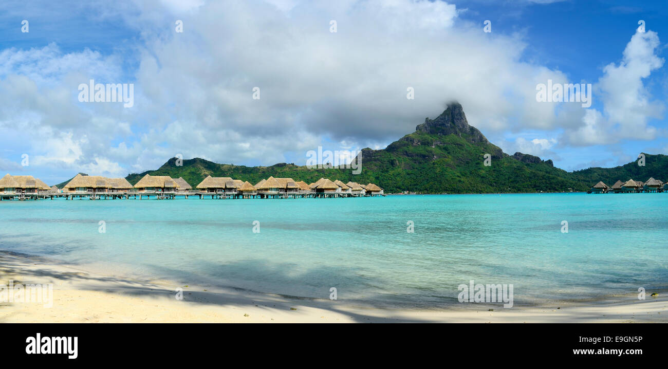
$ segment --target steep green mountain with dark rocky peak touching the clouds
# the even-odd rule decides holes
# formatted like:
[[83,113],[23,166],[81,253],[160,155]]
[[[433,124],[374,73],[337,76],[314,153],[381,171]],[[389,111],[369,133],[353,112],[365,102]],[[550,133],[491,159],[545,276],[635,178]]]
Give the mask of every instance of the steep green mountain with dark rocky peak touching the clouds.
[[[489,166],[484,158],[489,155]],[[426,193],[496,193],[586,190],[552,161],[516,152],[513,156],[489,142],[470,126],[462,106],[448,108],[436,119],[426,118],[415,132],[383,150],[361,152],[363,172],[377,173],[391,189]]]

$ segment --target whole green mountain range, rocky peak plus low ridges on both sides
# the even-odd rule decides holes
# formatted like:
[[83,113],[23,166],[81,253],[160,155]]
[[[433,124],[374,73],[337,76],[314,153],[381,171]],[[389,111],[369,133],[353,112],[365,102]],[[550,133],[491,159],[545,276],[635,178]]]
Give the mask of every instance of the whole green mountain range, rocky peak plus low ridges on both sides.
[[[415,132],[392,142],[382,150],[364,148],[359,153],[362,171],[352,174],[350,168],[311,169],[306,166],[279,163],[272,166],[237,166],[216,164],[201,158],[171,158],[157,170],[129,174],[135,184],[145,174],[182,176],[195,187],[206,176],[230,176],[255,184],[269,176],[291,177],[315,182],[327,177],[347,182],[373,182],[386,193],[527,193],[586,191],[599,180],[613,184],[631,177],[660,179],[668,174],[668,156],[647,154],[647,166],[635,162],[617,168],[589,168],[566,172],[555,168],[552,160],[515,152],[508,155],[477,128],[470,126],[461,104],[448,104],[435,119],[426,118]],[[485,165],[488,158],[489,166]],[[613,180],[614,178],[614,180]],[[668,178],[663,178],[668,179]],[[609,183],[611,182],[611,183]]]

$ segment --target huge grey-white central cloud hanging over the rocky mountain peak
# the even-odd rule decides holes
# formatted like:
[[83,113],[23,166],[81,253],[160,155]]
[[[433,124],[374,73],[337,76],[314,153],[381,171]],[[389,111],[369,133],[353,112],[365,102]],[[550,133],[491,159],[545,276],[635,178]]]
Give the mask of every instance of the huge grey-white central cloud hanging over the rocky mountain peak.
[[[244,150],[228,144],[230,150],[218,150],[211,142],[234,134],[273,141],[281,150],[285,137],[295,135],[379,146],[437,116],[453,99],[484,130],[555,121],[553,107],[530,102],[536,78],[564,76],[521,62],[524,44],[517,37],[490,37],[466,23],[454,27],[454,5],[302,1],[289,3],[286,12],[275,3],[208,3],[184,20],[187,32],[152,40],[142,55],[137,76],[146,104],[165,120],[176,116],[209,130],[196,142],[215,148],[209,156],[218,160],[244,158]],[[254,87],[261,100],[251,99]],[[415,100],[406,99],[409,87]],[[290,142],[296,152],[313,148],[313,140]]]

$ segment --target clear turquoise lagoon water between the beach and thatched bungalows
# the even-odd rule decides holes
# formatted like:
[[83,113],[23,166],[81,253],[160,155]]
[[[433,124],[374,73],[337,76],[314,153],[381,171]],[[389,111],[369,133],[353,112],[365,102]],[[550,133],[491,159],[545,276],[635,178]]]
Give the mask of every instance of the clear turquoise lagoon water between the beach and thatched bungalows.
[[526,305],[665,289],[665,209],[664,193],[1,201],[0,250],[193,285],[336,287],[339,301],[381,306],[458,303],[470,279],[513,283]]

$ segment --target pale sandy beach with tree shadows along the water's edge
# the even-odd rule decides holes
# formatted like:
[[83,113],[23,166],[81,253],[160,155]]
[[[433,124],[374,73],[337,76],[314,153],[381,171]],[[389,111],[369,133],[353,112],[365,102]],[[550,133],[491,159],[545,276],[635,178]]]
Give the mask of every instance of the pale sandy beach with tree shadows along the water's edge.
[[[98,275],[42,257],[0,252],[0,284],[53,283],[53,306],[1,302],[0,323],[222,322],[222,323],[562,323],[668,322],[668,298],[637,294],[543,307],[476,305],[444,310],[393,310],[351,306],[342,300],[286,297],[238,289],[138,281]],[[183,291],[177,299],[176,289]],[[489,311],[493,308],[494,311]]]

